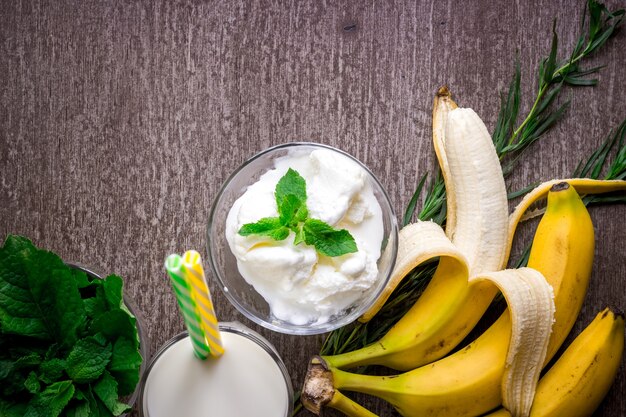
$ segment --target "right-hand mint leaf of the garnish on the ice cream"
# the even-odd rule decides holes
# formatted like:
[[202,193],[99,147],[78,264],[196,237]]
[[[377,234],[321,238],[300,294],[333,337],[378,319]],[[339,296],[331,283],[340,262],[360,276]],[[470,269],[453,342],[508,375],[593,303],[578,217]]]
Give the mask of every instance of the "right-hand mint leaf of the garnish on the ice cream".
[[304,222],[304,242],[326,256],[341,256],[357,251],[354,238],[345,229],[335,230],[332,226],[317,219]]

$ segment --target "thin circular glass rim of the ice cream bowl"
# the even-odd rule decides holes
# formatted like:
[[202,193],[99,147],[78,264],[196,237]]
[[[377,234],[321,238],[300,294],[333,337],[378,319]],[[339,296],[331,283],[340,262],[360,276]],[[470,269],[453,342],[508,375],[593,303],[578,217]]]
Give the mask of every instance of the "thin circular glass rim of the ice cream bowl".
[[[322,144],[322,143],[315,143],[315,142],[287,142],[287,143],[282,143],[279,145],[275,145],[269,148],[266,148],[264,150],[262,150],[261,152],[256,153],[255,155],[253,155],[252,157],[248,158],[247,160],[245,160],[234,172],[232,172],[228,178],[224,181],[224,183],[222,184],[222,186],[220,187],[219,191],[217,192],[215,199],[213,200],[213,205],[211,207],[211,211],[209,214],[209,220],[208,220],[208,225],[207,225],[207,250],[208,250],[208,258],[209,258],[209,264],[211,266],[211,271],[213,272],[213,275],[215,276],[215,278],[217,279],[218,283],[219,283],[219,287],[221,292],[226,296],[226,298],[228,299],[228,301],[241,313],[243,314],[246,318],[252,320],[253,322],[269,329],[272,331],[276,331],[279,333],[283,333],[283,334],[289,334],[289,335],[302,335],[302,336],[311,336],[311,335],[316,335],[316,334],[322,334],[322,333],[326,333],[332,330],[335,330],[339,327],[345,326],[347,324],[350,324],[352,322],[354,322],[355,320],[357,320],[365,311],[367,311],[367,308],[369,308],[368,306],[371,306],[372,303],[376,300],[376,298],[378,296],[380,296],[380,294],[382,293],[382,291],[385,288],[385,285],[380,285],[380,288],[378,288],[376,291],[370,291],[370,294],[363,300],[361,300],[361,302],[359,303],[360,305],[362,305],[363,307],[361,308],[355,308],[353,312],[351,312],[350,314],[346,315],[345,317],[350,317],[352,318],[350,321],[343,321],[343,320],[336,320],[336,321],[330,321],[330,322],[326,322],[323,323],[322,325],[319,326],[311,326],[311,325],[296,325],[296,324],[288,324],[286,322],[281,323],[280,325],[274,324],[271,321],[265,320],[264,318],[259,317],[257,314],[255,314],[254,312],[250,311],[248,307],[246,307],[244,304],[242,304],[235,296],[233,296],[230,291],[228,290],[229,285],[227,285],[227,283],[224,281],[222,274],[218,271],[217,269],[217,260],[215,259],[215,253],[212,249],[213,246],[213,238],[212,238],[212,230],[213,230],[213,225],[215,223],[215,213],[218,207],[218,203],[220,202],[222,196],[224,195],[224,192],[226,191],[226,188],[230,185],[230,183],[233,181],[233,179],[239,175],[239,173],[245,169],[248,165],[250,165],[252,162],[256,161],[257,159],[271,153],[271,152],[275,152],[277,150],[281,150],[281,149],[288,149],[288,148],[304,148],[304,147],[311,147],[311,148],[322,148],[322,149],[328,149],[331,151],[335,151],[338,152],[341,155],[346,156],[347,158],[349,158],[351,161],[356,162],[363,170],[365,170],[365,172],[368,174],[368,177],[374,182],[374,185],[377,188],[377,191],[380,191],[380,193],[382,194],[384,201],[386,202],[386,206],[388,208],[388,212],[386,213],[386,215],[389,217],[390,220],[390,234],[389,236],[385,236],[387,239],[387,244],[389,244],[389,242],[393,241],[393,247],[391,248],[392,253],[387,254],[387,256],[390,256],[390,260],[389,260],[389,272],[387,274],[387,276],[385,277],[385,283],[389,281],[389,278],[391,276],[391,273],[393,272],[393,269],[395,267],[395,262],[396,262],[396,257],[397,257],[397,252],[398,252],[398,221],[396,218],[396,214],[393,208],[393,205],[391,203],[391,199],[389,198],[389,195],[387,194],[387,191],[385,190],[385,187],[383,187],[383,185],[381,184],[381,182],[379,181],[378,177],[376,177],[376,175],[374,175],[374,173],[365,165],[363,164],[361,161],[359,161],[356,157],[350,155],[349,153],[347,153],[346,151],[343,151],[341,149],[335,148],[333,146],[330,145],[326,145],[326,144]],[[385,209],[383,209],[383,213],[385,213]],[[383,241],[385,241],[385,239],[383,239]],[[385,248],[385,250],[387,250],[388,246]],[[381,255],[379,260],[385,255],[384,251],[381,251]],[[378,261],[377,261],[378,262]],[[329,325],[330,324],[330,325]]]

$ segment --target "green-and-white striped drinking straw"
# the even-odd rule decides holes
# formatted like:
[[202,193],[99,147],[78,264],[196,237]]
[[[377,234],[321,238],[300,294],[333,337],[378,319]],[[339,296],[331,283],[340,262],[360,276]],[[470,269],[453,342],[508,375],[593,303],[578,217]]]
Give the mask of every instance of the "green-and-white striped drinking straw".
[[168,256],[165,260],[165,269],[170,277],[178,307],[183,314],[185,326],[189,331],[193,351],[198,358],[204,360],[209,356],[209,347],[204,340],[200,316],[197,312],[196,303],[191,296],[191,286],[185,280],[183,259],[177,254]]

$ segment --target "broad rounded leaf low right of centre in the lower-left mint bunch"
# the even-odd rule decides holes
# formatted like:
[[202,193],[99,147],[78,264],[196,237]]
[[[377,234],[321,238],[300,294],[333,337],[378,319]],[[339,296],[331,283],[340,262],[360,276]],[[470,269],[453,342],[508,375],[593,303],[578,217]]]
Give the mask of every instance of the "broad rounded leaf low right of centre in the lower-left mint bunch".
[[95,337],[76,342],[65,361],[65,370],[76,383],[94,381],[102,375],[111,358],[111,345],[102,344]]

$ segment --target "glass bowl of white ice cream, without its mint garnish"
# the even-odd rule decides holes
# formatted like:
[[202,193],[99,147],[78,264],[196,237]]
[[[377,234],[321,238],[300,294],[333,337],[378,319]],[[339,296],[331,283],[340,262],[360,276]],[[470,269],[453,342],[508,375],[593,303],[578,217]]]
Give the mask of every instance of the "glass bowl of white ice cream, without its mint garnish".
[[[348,230],[358,251],[331,257],[297,242],[241,236],[241,226],[278,217],[275,187],[289,170],[306,182],[309,218]],[[253,156],[224,183],[208,224],[209,262],[220,289],[250,320],[311,335],[361,316],[387,284],[398,248],[383,186],[353,156],[317,143],[278,145]]]

